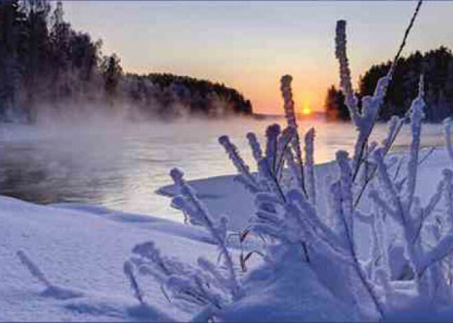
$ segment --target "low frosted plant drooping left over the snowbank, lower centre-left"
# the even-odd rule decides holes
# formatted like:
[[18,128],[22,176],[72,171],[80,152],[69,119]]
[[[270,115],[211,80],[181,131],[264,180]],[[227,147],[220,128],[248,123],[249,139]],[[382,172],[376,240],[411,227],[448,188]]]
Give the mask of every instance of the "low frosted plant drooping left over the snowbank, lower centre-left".
[[[249,177],[243,183],[252,185],[255,179],[248,172],[248,167],[238,156],[235,147],[224,138],[222,143],[231,149],[231,159],[242,174]],[[124,272],[135,291],[135,297],[143,303],[143,292],[132,272],[130,264],[135,265],[139,274],[151,275],[161,284],[161,290],[168,300],[185,311],[198,309],[197,320],[211,318],[215,311],[222,309],[241,295],[240,283],[237,278],[237,268],[231,253],[227,249],[227,218],[216,220],[211,217],[206,206],[197,198],[183,178],[183,173],[172,169],[170,176],[178,189],[179,195],[173,199],[173,205],[181,208],[187,215],[190,224],[203,226],[219,248],[218,263],[203,257],[198,258],[197,266],[183,263],[176,258],[163,256],[154,242],[149,241],[135,246],[135,254],[124,265]],[[253,182],[254,185],[257,185]]]

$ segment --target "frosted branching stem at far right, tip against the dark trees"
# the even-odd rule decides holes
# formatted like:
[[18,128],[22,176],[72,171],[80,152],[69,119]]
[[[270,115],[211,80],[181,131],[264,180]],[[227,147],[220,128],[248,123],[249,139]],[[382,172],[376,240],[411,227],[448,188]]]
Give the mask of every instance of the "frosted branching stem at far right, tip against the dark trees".
[[[371,191],[370,198],[382,208],[388,215],[401,226],[403,232],[403,241],[407,251],[410,267],[415,274],[415,283],[420,294],[432,294],[434,285],[443,284],[439,276],[439,266],[437,263],[448,256],[453,250],[453,228],[443,237],[437,238],[437,243],[431,247],[428,252],[421,248],[421,230],[426,218],[432,213],[439,203],[442,192],[448,191],[452,182],[452,171],[443,171],[443,180],[439,183],[436,193],[432,195],[426,207],[422,208],[419,199],[415,197],[415,188],[417,184],[417,169],[419,167],[419,147],[421,136],[421,120],[423,119],[423,77],[420,79],[419,95],[414,99],[410,109],[412,141],[410,144],[410,160],[408,162],[406,187],[403,190],[397,189],[388,176],[388,171],[383,160],[383,148],[376,149],[375,163],[377,173],[382,183],[382,188],[386,198],[391,202],[388,205],[384,202],[382,193]],[[453,190],[452,190],[453,191]],[[447,207],[452,208],[452,196],[445,195]],[[427,230],[432,229],[432,225],[426,226]],[[432,266],[432,267],[431,267]],[[429,274],[426,274],[426,270]],[[444,286],[443,284],[442,286]],[[439,285],[440,286],[440,285]],[[443,287],[441,287],[442,289]]]

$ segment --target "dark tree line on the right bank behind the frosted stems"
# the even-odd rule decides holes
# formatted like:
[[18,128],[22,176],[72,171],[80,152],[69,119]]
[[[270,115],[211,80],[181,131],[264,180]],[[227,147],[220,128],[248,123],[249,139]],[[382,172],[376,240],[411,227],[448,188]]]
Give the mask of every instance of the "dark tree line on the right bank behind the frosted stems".
[[[358,97],[372,95],[377,80],[386,75],[391,61],[373,65],[360,77]],[[386,121],[392,115],[402,117],[410,102],[417,95],[419,75],[425,79],[425,115],[430,122],[439,122],[453,115],[453,54],[447,47],[421,53],[415,51],[408,58],[397,62],[393,80],[388,87],[384,105],[380,110],[380,120]],[[327,91],[325,108],[331,120],[349,119],[344,95],[332,86]]]

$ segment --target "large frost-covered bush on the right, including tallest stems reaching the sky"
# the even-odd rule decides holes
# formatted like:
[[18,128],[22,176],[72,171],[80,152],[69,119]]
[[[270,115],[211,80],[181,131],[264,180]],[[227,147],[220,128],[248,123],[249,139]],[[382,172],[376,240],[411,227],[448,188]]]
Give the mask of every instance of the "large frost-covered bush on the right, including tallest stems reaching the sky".
[[[395,62],[401,53],[406,42],[408,32],[413,25],[413,21],[419,10],[421,2],[417,5],[417,10],[411,19],[410,26],[406,29],[406,34],[402,46],[399,48]],[[310,191],[314,185],[314,175],[310,171],[301,171],[303,169],[302,158],[298,153],[301,151],[300,146],[291,146],[291,149],[285,151],[285,161],[288,174],[292,178],[294,188],[286,187],[278,178],[272,176],[272,164],[264,163],[259,158],[258,161],[259,176],[264,179],[268,190],[262,190],[255,193],[255,204],[257,212],[253,219],[253,232],[262,235],[268,235],[281,245],[300,244],[305,253],[305,261],[310,263],[313,259],[312,252],[314,246],[328,250],[329,257],[335,261],[347,264],[355,272],[356,277],[362,282],[362,286],[368,292],[375,309],[381,316],[390,304],[386,296],[393,293],[391,279],[393,277],[408,278],[401,271],[406,270],[406,261],[409,270],[413,272],[413,279],[417,285],[417,291],[422,296],[432,296],[433,285],[445,286],[443,280],[443,270],[439,262],[450,253],[451,232],[448,230],[439,233],[434,230],[432,224],[425,225],[426,218],[433,212],[439,203],[440,191],[448,184],[447,170],[444,171],[444,179],[439,183],[437,193],[434,193],[430,202],[422,207],[419,198],[415,196],[415,186],[417,182],[417,169],[419,167],[419,149],[421,135],[421,120],[423,119],[423,77],[419,86],[419,96],[413,101],[410,110],[404,118],[393,117],[388,125],[388,134],[381,147],[377,143],[368,143],[369,136],[373,130],[377,115],[384,99],[386,88],[393,75],[395,63],[388,72],[388,75],[382,77],[377,83],[375,93],[372,97],[362,99],[362,110],[358,108],[358,100],[353,95],[351,86],[351,77],[349,64],[345,51],[345,22],[340,21],[337,25],[337,50],[336,55],[340,61],[341,85],[346,95],[346,103],[351,112],[351,119],[358,129],[358,139],[356,141],[352,165],[349,165],[349,159],[346,152],[337,153],[337,162],[339,167],[339,179],[330,184],[329,189],[329,206],[328,214],[336,219],[329,223],[334,224],[327,227],[325,217],[316,213],[316,195]],[[285,101],[286,117],[288,127],[294,128],[295,118],[292,117],[294,111],[294,102],[290,95],[291,77],[285,75],[282,77],[282,94]],[[284,89],[284,90],[283,90]],[[404,121],[410,119],[413,141],[410,145],[410,154],[407,164],[407,173],[403,180],[398,179],[398,173],[402,166],[402,160],[399,160],[397,171],[392,179],[388,173],[390,164],[386,164],[384,158],[390,151],[395,142]],[[447,129],[448,131],[448,129]],[[267,136],[268,142],[266,147],[274,146],[275,136]],[[308,132],[305,137],[305,167],[310,167],[313,162],[310,155],[313,154],[311,133]],[[294,136],[293,138],[296,138]],[[278,141],[278,139],[277,139]],[[295,141],[293,140],[292,143]],[[266,155],[269,155],[270,149],[267,149]],[[294,158],[294,155],[296,158]],[[254,154],[254,156],[257,156]],[[272,155],[273,156],[273,155]],[[263,158],[264,159],[264,158]],[[272,157],[270,158],[272,160]],[[364,182],[362,189],[357,190],[354,184],[356,176],[359,174],[360,165],[367,161],[365,165],[370,165],[370,169],[364,170]],[[397,165],[397,158],[390,160],[393,165]],[[305,173],[305,176],[303,174]],[[371,215],[362,214],[356,209],[358,200],[364,192],[366,185],[371,182],[377,173],[378,182],[373,184],[369,193],[371,200],[375,203],[374,212]],[[445,177],[446,176],[446,177]],[[308,182],[308,184],[307,184]],[[279,188],[278,190],[275,188]],[[358,192],[358,194],[356,193]],[[383,196],[381,196],[381,194]],[[388,203],[386,201],[391,201]],[[451,204],[451,198],[445,198],[447,204]],[[394,209],[392,208],[394,207]],[[389,214],[388,214],[389,213]],[[390,214],[391,213],[391,214]],[[357,246],[354,235],[356,227],[355,219],[371,226],[372,243],[371,258],[368,261],[360,261],[357,254]],[[386,227],[390,219],[399,219],[402,236],[399,240],[404,241],[404,249],[395,244],[395,238],[387,235]],[[432,240],[431,248],[426,249],[426,239]],[[430,233],[431,232],[431,233]],[[432,233],[437,232],[437,233]],[[433,243],[434,241],[434,243]],[[321,247],[324,245],[324,247]],[[316,250],[314,250],[316,255]],[[403,253],[402,253],[403,252]],[[403,259],[399,263],[395,259]],[[430,259],[428,261],[427,259]],[[399,273],[398,273],[399,271]],[[349,271],[349,275],[351,273]],[[451,275],[450,275],[451,276]],[[350,276],[352,277],[352,276]],[[348,281],[351,278],[347,278]],[[352,282],[353,280],[351,280]],[[442,288],[441,288],[442,289]],[[358,299],[359,294],[356,294]],[[448,295],[448,293],[443,293]]]

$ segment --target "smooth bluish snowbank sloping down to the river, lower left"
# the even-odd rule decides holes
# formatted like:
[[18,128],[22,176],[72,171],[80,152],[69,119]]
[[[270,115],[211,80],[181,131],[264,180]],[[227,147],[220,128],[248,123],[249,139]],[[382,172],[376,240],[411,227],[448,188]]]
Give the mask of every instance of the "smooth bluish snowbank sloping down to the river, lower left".
[[[0,320],[118,321],[187,320],[169,306],[158,285],[148,285],[147,302],[137,307],[123,263],[143,241],[195,263],[216,259],[216,247],[200,228],[154,217],[89,206],[38,206],[0,197]],[[21,264],[25,252],[58,290],[45,289]],[[189,252],[197,250],[197,252]],[[163,314],[161,310],[168,314]]]

